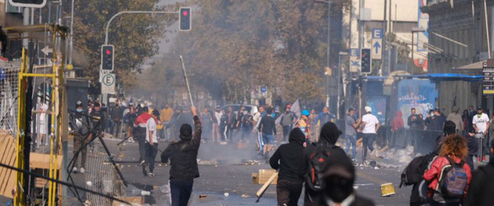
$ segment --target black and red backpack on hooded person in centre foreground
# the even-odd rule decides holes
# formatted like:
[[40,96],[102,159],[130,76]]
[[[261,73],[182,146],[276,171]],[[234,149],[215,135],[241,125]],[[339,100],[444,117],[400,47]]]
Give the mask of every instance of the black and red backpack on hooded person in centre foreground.
[[331,157],[331,152],[338,146],[320,144],[314,145],[316,148],[309,155],[309,166],[307,175],[307,185],[316,192],[322,190],[322,170],[324,170],[327,160]]

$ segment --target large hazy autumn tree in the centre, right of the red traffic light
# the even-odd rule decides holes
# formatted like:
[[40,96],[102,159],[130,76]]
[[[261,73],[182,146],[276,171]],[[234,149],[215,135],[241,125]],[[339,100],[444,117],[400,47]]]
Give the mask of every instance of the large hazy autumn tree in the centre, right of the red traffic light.
[[[348,2],[333,1],[331,14],[340,14]],[[178,36],[170,55],[183,55],[190,62],[187,68],[196,88],[231,102],[248,100],[257,87],[278,88],[288,101],[322,100],[325,4],[303,0],[190,4],[198,8],[192,31]],[[333,54],[339,51],[333,45],[331,49]]]

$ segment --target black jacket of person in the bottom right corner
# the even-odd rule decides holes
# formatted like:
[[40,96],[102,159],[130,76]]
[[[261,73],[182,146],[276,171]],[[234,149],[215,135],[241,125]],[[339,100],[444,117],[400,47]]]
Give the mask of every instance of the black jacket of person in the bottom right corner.
[[467,206],[493,205],[494,191],[494,160],[489,165],[478,168],[472,176],[467,201]]

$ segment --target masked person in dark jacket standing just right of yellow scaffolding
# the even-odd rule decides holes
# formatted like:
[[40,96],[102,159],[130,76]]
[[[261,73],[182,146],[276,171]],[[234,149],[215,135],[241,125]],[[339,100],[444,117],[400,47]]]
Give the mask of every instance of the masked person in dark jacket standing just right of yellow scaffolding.
[[[73,135],[74,154],[84,144],[87,144],[91,137],[86,138],[86,135],[90,133],[93,128],[93,122],[89,120],[87,113],[84,112],[84,106],[81,101],[75,103],[75,113],[70,113],[69,116],[69,132]],[[91,136],[91,135],[90,135]],[[84,167],[86,166],[86,148],[82,149],[79,153],[81,155],[80,170],[78,170],[78,156],[74,157],[73,172],[84,173]]]

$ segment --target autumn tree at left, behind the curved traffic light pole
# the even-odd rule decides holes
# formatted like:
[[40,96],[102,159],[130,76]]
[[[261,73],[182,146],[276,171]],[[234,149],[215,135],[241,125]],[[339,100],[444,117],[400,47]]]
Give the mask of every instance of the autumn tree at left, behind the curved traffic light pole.
[[[75,65],[84,67],[84,76],[91,82],[99,77],[100,48],[110,18],[129,10],[178,10],[178,5],[157,6],[159,0],[86,0],[75,2],[74,53]],[[70,11],[70,4],[64,4]],[[178,20],[170,14],[124,14],[113,20],[108,32],[108,43],[115,45],[115,73],[125,80],[124,88],[137,84],[136,73],[149,57],[158,52],[158,41],[165,35],[165,27]]]

